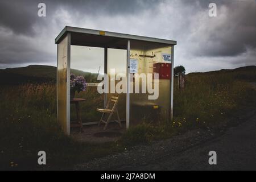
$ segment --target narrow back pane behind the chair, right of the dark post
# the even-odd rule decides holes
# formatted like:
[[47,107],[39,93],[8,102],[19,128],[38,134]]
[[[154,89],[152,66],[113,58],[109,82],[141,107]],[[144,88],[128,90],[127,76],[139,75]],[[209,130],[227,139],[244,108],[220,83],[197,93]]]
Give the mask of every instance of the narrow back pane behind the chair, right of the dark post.
[[[117,76],[125,77],[126,78],[126,60],[127,60],[127,51],[124,49],[112,49],[108,48],[108,76],[109,76],[109,94],[107,100],[109,101],[111,96],[118,96],[118,113],[119,117],[122,120],[125,120],[126,117],[126,83],[124,84],[125,87],[121,89],[125,90],[124,93],[117,93],[114,90],[114,93],[111,93],[110,84],[114,79],[114,88],[117,86],[118,82],[121,80],[115,79]],[[121,83],[121,82],[120,82]]]

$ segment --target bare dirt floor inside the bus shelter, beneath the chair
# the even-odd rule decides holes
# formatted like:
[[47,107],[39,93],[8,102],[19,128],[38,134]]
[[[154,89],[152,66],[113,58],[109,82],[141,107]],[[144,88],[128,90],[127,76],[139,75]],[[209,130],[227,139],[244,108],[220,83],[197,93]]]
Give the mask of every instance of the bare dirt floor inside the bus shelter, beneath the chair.
[[79,127],[71,127],[71,136],[80,142],[105,143],[117,141],[126,131],[125,122],[122,122],[121,128],[117,122],[110,122],[106,130],[103,129],[104,125],[86,125],[83,126],[83,132],[80,132]]

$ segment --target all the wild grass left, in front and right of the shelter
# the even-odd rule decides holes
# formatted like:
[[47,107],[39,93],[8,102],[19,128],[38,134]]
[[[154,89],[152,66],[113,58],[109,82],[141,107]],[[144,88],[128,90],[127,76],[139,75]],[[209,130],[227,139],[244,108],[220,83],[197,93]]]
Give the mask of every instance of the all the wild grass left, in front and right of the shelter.
[[[56,122],[55,84],[1,86],[0,168],[72,168],[76,163],[187,130],[221,128],[222,121],[236,116],[243,107],[255,108],[256,94],[249,83],[256,82],[255,68],[191,73],[186,78],[184,90],[178,90],[175,81],[172,122],[160,121],[153,126],[143,121],[117,143],[106,144],[79,143],[63,134]],[[93,100],[93,92],[90,97]],[[40,150],[47,153],[46,167],[37,164]]]

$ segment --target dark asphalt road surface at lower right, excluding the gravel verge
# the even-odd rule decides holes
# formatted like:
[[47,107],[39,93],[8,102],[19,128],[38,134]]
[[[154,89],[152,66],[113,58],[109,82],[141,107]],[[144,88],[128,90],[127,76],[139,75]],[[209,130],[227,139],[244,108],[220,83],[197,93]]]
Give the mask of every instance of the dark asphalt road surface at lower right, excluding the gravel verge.
[[[217,152],[217,165],[209,165],[208,152]],[[158,165],[158,167],[156,167]],[[256,115],[210,142],[143,168],[166,170],[256,170]],[[142,168],[138,168],[142,169]]]

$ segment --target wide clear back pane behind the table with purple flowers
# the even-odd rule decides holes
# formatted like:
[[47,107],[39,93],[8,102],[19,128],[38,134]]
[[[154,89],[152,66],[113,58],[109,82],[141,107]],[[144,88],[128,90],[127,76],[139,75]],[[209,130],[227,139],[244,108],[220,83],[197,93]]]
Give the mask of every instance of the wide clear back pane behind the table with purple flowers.
[[[104,107],[104,94],[97,92],[98,74],[104,75],[104,48],[71,46],[71,73],[83,76],[87,83],[85,91],[75,94],[75,98],[85,98],[80,102],[82,122],[100,121],[97,108]],[[76,107],[71,104],[71,122],[76,121]]]

